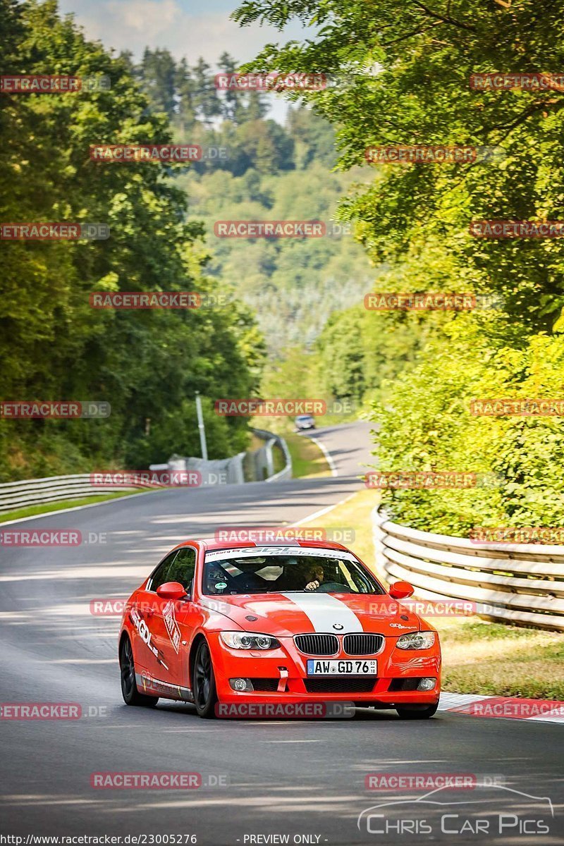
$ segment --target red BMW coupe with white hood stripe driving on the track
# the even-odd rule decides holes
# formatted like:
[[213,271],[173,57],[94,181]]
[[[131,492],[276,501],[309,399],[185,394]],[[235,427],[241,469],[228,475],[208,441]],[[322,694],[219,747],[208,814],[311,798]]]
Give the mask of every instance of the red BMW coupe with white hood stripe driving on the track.
[[185,541],[129,597],[119,634],[123,699],[194,703],[344,702],[435,714],[441,648],[337,543]]

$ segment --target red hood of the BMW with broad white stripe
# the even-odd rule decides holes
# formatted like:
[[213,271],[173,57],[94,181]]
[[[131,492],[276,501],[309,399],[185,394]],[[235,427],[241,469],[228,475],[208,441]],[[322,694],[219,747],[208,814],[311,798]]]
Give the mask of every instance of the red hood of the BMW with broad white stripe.
[[392,596],[269,593],[203,597],[241,629],[275,636],[331,632],[394,635],[419,630],[420,618]]

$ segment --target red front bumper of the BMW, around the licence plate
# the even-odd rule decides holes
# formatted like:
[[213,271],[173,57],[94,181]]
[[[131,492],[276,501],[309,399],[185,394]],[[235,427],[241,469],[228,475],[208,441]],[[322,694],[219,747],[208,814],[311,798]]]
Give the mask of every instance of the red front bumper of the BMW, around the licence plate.
[[[439,699],[441,648],[438,639],[431,649],[408,651],[397,649],[397,637],[385,637],[383,648],[375,656],[353,656],[360,660],[374,658],[378,662],[375,677],[308,676],[306,662],[317,656],[302,654],[289,637],[279,638],[281,647],[266,652],[230,649],[218,633],[208,634],[208,639],[217,696],[221,702],[354,701],[393,708],[408,704],[434,705]],[[350,661],[351,657],[342,652],[331,656],[331,660]],[[249,678],[255,689],[239,693],[229,684],[230,678]],[[418,678],[436,678],[435,688],[428,691],[397,689],[408,679],[415,684]]]

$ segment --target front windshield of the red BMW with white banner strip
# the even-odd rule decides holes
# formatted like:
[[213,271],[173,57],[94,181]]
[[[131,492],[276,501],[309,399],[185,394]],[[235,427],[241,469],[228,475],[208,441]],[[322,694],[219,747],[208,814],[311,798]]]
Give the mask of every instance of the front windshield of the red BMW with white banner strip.
[[[302,550],[300,550],[302,552]],[[203,593],[211,596],[248,593],[383,594],[378,582],[356,561],[316,555],[206,557]]]

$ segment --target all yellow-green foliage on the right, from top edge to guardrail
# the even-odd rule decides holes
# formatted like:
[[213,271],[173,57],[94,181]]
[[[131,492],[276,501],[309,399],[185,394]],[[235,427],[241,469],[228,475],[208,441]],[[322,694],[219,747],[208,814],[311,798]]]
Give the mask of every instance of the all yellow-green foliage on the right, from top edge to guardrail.
[[478,149],[466,164],[366,164],[373,180],[342,201],[341,214],[385,265],[376,291],[488,293],[502,308],[367,316],[359,305],[332,316],[317,366],[339,392],[376,389],[382,470],[500,474],[494,490],[387,493],[400,519],[463,533],[476,522],[559,525],[561,419],[474,418],[468,402],[561,397],[564,242],[478,239],[468,227],[564,218],[563,86],[469,84],[471,74],[561,74],[561,4],[245,0],[233,16],[280,30],[292,19],[315,26],[306,41],[267,45],[249,69],[337,80],[289,96],[335,125],[341,168],[361,164],[370,146]]

